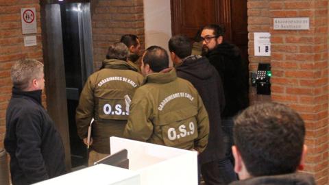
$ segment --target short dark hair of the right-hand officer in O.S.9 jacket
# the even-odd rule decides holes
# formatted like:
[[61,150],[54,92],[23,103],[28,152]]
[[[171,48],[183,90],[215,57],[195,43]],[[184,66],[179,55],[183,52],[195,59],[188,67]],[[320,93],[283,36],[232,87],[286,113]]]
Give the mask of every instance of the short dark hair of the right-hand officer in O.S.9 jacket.
[[143,63],[149,64],[152,71],[160,72],[169,67],[169,56],[162,47],[151,46],[145,50]]

